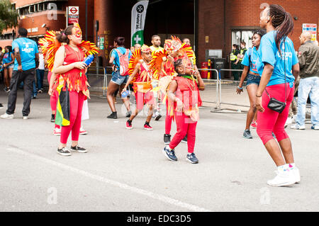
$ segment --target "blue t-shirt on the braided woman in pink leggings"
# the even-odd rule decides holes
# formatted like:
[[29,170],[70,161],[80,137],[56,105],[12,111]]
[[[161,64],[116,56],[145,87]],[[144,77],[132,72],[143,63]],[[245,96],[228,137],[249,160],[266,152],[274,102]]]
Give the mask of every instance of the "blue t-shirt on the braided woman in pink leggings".
[[259,58],[262,59],[262,62],[264,64],[271,64],[274,67],[272,77],[270,78],[267,86],[285,83],[285,64],[286,82],[292,83],[295,81],[295,77],[293,76],[291,69],[293,65],[298,64],[298,57],[293,48],[293,42],[291,39],[286,37],[285,43],[281,41],[281,57],[279,50],[276,47],[275,35],[276,31],[272,30],[266,35],[262,36],[258,50]]

